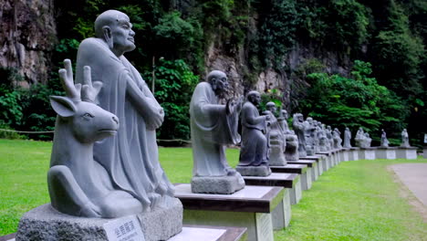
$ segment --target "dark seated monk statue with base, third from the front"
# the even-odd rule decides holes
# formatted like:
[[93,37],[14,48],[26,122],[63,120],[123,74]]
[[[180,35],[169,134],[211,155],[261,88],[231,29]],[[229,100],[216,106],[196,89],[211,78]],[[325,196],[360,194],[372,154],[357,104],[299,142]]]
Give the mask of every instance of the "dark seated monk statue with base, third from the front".
[[[272,113],[260,116],[256,107],[261,101],[257,91],[250,91],[242,108],[242,146],[236,171],[242,175],[267,176],[271,173],[268,166],[268,140],[266,138]],[[276,118],[275,118],[276,119]],[[274,123],[277,125],[276,123]],[[280,133],[275,131],[276,139]]]

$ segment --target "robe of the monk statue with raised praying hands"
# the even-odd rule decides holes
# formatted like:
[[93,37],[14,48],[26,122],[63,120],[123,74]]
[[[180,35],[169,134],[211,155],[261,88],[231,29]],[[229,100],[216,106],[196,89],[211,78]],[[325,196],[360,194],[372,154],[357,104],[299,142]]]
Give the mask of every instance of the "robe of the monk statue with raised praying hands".
[[201,82],[193,92],[190,116],[193,176],[227,175],[231,167],[225,159],[225,145],[240,142],[238,111],[227,114],[211,84]]

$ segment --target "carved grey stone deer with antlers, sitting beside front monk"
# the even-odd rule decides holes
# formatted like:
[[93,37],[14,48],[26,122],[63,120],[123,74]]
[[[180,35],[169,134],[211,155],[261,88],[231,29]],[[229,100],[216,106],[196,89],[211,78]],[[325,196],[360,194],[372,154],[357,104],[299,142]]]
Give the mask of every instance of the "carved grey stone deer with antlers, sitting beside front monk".
[[57,112],[55,136],[47,173],[52,206],[77,216],[113,218],[142,212],[141,203],[127,192],[117,190],[109,174],[93,160],[93,143],[116,133],[118,118],[94,103],[101,82],[92,85],[90,68],[84,68],[83,86],[74,85],[71,61],[59,78],[67,96],[52,96]]

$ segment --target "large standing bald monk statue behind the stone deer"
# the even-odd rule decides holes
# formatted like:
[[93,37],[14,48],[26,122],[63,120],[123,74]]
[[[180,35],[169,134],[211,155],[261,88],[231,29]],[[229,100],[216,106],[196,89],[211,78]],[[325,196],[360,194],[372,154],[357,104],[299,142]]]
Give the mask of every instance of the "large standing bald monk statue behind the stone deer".
[[[163,121],[163,109],[124,57],[135,49],[131,26],[129,16],[116,10],[97,17],[96,37],[83,40],[78,47],[76,82],[82,81],[84,66],[89,66],[91,78],[103,84],[99,106],[122,122],[117,135],[94,144],[94,160],[106,169],[115,187],[141,203],[143,214],[151,213],[151,226],[159,229],[154,236],[167,239],[181,232],[182,204],[173,196],[173,185],[159,162],[155,130]],[[166,224],[162,218],[175,221]]]

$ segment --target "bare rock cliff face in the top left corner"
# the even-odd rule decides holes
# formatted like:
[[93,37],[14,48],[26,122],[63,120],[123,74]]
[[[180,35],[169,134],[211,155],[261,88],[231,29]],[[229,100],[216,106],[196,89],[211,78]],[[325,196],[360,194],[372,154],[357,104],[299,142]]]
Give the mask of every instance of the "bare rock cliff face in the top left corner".
[[53,0],[2,0],[0,68],[15,68],[24,81],[45,83],[57,42]]

